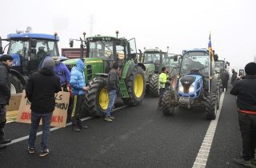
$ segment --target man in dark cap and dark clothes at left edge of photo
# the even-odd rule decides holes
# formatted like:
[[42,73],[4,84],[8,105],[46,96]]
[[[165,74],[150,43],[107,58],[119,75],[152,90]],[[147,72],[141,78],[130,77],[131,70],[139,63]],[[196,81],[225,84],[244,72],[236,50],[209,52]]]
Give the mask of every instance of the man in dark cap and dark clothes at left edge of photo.
[[14,58],[4,54],[0,57],[0,149],[6,147],[6,143],[11,142],[5,137],[4,128],[6,126],[6,105],[10,100],[10,67],[13,66]]

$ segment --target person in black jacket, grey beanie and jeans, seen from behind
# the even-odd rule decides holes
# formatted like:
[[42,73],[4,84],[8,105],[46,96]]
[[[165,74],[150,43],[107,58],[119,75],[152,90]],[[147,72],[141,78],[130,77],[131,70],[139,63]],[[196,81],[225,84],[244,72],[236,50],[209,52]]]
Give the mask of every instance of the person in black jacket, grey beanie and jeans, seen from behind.
[[30,154],[35,152],[35,140],[39,122],[42,118],[42,141],[39,156],[50,154],[48,141],[50,121],[55,107],[55,93],[61,91],[60,79],[54,75],[54,60],[50,57],[42,62],[42,68],[31,75],[26,86],[26,97],[31,102]]

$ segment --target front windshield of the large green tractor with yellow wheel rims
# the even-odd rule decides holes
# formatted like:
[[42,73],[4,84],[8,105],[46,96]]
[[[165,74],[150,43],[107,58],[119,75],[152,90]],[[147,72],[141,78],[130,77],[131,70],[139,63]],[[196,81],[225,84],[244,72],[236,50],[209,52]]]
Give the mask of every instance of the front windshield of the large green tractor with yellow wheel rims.
[[113,58],[113,42],[95,41],[89,43],[89,58]]

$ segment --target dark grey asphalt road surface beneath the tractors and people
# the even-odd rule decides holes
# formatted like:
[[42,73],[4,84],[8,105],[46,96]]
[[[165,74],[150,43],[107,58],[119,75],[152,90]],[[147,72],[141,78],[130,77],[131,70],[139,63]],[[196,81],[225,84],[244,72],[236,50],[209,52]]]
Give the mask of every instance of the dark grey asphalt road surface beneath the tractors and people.
[[[44,158],[26,151],[27,139],[0,150],[1,167],[193,167],[210,121],[203,110],[178,108],[174,117],[157,109],[158,98],[145,98],[140,106],[114,111],[114,122],[90,118],[87,130],[74,133],[71,126],[50,134],[52,152]],[[122,106],[122,103],[119,104]],[[11,122],[6,137],[28,135],[30,125]],[[39,130],[40,131],[40,130]],[[40,145],[38,136],[37,146]],[[207,168],[242,167],[232,162],[242,141],[235,98],[225,94]]]

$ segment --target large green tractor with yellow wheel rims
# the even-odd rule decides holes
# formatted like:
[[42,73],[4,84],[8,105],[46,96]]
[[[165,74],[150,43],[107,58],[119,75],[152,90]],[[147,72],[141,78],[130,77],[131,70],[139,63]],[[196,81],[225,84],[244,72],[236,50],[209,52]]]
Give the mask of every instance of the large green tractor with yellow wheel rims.
[[[121,72],[118,96],[129,106],[137,106],[144,98],[146,80],[143,70],[146,67],[137,62],[135,38],[118,38],[116,33],[116,38],[101,35],[84,40],[80,38],[81,48],[86,50],[86,84],[90,87],[84,106],[91,116],[102,117],[107,110],[109,95],[106,82],[114,62],[118,62]],[[70,44],[73,45],[73,40]],[[71,68],[76,66],[76,62],[77,59],[70,59],[64,63]]]

